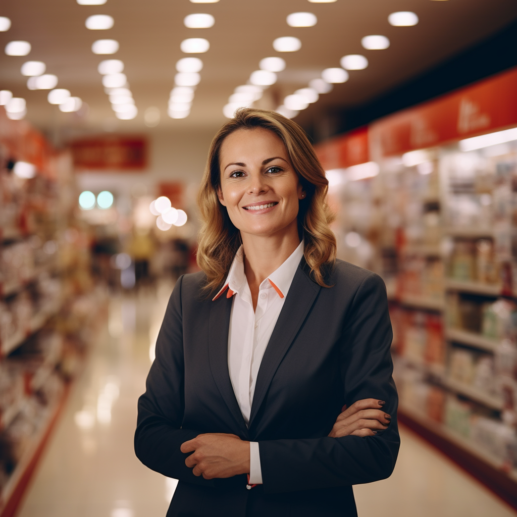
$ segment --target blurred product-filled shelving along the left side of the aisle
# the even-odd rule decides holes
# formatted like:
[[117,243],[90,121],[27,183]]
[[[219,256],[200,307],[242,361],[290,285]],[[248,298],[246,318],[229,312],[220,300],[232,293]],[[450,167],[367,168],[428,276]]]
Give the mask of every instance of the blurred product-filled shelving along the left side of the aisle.
[[90,276],[76,199],[67,153],[0,107],[1,517],[14,515],[102,321],[106,294]]

